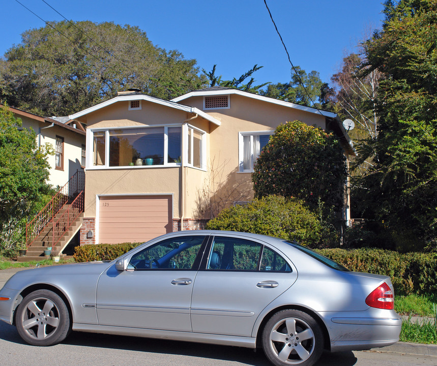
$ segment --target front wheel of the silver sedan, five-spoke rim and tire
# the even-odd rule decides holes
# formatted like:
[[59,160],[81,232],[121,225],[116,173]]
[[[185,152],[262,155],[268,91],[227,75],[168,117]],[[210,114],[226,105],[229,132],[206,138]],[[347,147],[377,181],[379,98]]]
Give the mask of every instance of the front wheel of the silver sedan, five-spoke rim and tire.
[[33,346],[51,346],[70,332],[70,314],[64,300],[53,291],[37,290],[21,301],[15,323],[20,337]]

